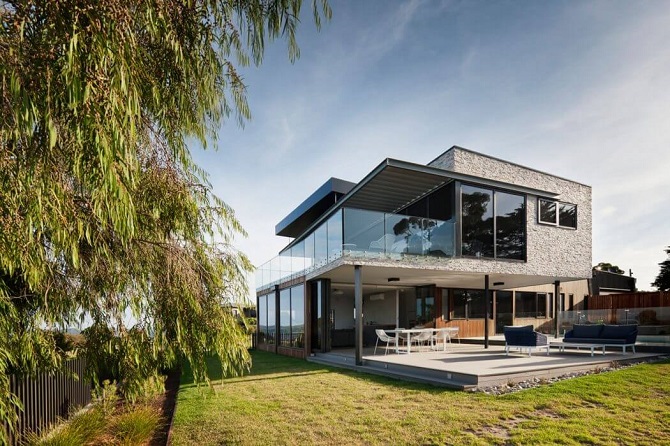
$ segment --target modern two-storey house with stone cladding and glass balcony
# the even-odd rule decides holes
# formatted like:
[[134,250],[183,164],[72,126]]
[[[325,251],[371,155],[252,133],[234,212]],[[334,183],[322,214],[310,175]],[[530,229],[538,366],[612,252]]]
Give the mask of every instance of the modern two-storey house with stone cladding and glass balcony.
[[276,234],[290,243],[257,271],[259,348],[355,347],[360,363],[376,328],[556,330],[570,282],[591,277],[591,188],[452,147],[331,178]]

